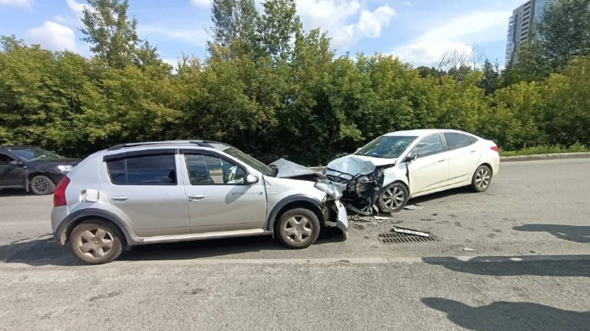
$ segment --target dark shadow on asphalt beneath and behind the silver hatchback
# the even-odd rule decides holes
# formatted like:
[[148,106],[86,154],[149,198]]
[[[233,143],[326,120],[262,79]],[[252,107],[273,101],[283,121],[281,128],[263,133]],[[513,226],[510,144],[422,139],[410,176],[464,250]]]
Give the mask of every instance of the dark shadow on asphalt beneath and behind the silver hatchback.
[[[337,229],[324,229],[314,245],[342,241]],[[271,236],[238,237],[210,240],[182,241],[179,243],[134,246],[123,251],[117,260],[189,260],[251,251],[290,251]],[[0,246],[0,261],[26,263],[31,266],[80,266],[69,245],[61,247],[53,237],[30,241],[13,241]]]

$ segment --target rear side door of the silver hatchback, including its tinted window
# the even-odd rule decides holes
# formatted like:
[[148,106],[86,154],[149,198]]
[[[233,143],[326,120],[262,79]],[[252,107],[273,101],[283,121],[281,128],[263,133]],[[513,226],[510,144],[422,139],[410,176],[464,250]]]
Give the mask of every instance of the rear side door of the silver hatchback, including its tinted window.
[[140,237],[190,233],[176,151],[141,150],[104,157],[101,173],[107,199]]

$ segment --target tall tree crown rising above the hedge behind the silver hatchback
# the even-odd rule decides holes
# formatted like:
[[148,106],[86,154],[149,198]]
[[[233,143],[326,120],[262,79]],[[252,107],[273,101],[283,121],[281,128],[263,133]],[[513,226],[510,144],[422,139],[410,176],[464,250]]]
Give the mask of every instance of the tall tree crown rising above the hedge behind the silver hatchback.
[[[122,69],[131,64],[141,40],[136,32],[137,19],[127,17],[129,0],[88,0],[88,5],[80,31],[85,36],[82,40],[91,44],[90,51],[110,67]],[[149,44],[145,46],[149,48]]]

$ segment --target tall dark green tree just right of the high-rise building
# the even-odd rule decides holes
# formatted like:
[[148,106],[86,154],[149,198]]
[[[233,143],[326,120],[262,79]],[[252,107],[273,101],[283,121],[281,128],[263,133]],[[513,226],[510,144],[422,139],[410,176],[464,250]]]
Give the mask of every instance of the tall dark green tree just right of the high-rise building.
[[551,0],[536,27],[553,68],[590,55],[590,0]]

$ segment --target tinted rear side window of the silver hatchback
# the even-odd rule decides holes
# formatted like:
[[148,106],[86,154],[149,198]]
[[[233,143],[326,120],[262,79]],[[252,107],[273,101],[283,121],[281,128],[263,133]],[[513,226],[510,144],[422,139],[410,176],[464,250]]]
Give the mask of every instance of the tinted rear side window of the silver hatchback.
[[113,184],[175,185],[174,155],[149,155],[107,162]]

